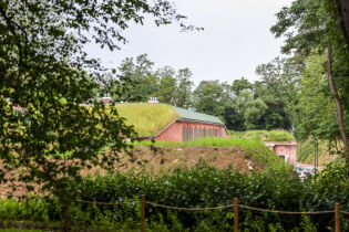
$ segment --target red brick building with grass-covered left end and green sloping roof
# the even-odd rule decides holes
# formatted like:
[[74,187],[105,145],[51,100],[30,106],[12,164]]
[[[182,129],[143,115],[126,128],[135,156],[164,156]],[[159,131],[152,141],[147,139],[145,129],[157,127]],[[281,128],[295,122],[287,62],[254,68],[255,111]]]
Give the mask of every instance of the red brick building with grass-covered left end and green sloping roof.
[[[201,137],[229,137],[218,117],[166,104],[117,104],[119,114],[141,139],[187,141]],[[148,126],[144,126],[148,125]]]

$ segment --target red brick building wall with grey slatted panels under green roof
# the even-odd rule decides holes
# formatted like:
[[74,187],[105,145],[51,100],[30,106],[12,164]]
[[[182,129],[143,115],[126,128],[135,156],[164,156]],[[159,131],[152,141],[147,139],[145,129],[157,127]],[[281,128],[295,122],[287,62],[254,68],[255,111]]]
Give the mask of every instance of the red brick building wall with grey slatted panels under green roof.
[[175,122],[155,140],[157,141],[183,141],[199,137],[229,137],[226,129],[219,125],[203,123]]

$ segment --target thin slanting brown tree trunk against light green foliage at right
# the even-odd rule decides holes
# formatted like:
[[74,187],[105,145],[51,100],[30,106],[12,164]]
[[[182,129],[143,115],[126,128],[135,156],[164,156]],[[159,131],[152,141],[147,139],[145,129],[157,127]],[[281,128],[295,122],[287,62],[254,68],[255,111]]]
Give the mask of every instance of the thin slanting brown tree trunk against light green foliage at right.
[[336,102],[336,108],[337,108],[337,123],[340,131],[340,137],[343,143],[345,149],[346,149],[346,164],[349,165],[349,144],[348,138],[345,131],[345,124],[343,124],[343,110],[340,104],[340,99],[338,96],[337,88],[335,86],[333,82],[333,75],[332,75],[332,44],[328,44],[328,63],[327,63],[327,72],[328,72],[328,82],[330,85],[331,93],[335,97]]

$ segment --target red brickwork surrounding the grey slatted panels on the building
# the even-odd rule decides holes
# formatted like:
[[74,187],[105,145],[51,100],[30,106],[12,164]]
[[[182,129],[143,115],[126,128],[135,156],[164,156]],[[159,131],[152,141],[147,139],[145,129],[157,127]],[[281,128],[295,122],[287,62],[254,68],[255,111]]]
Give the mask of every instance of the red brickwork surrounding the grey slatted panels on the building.
[[[155,140],[157,141],[183,141],[183,128],[201,128],[201,129],[222,129],[222,137],[229,137],[226,133],[226,129],[223,126],[201,124],[201,123],[185,123],[185,122],[175,122],[161,135],[158,135]],[[194,133],[193,133],[194,134]],[[194,135],[193,135],[194,139]]]

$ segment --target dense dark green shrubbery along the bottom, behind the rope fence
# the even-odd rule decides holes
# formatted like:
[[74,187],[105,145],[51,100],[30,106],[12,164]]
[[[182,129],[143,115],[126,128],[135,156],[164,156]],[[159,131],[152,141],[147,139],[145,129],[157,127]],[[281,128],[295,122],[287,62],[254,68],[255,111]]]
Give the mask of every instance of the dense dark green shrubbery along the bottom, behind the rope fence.
[[[192,170],[175,170],[156,177],[146,173],[114,173],[105,177],[86,178],[78,187],[79,199],[100,202],[124,202],[138,200],[141,194],[147,201],[166,205],[193,208],[226,205],[235,197],[239,203],[261,209],[285,211],[332,210],[336,202],[348,211],[343,165],[329,167],[320,176],[301,181],[286,167],[269,169],[257,175],[232,173],[199,166]],[[62,220],[60,203],[57,200],[29,201],[17,203],[1,202],[1,221],[21,219],[38,222]],[[34,213],[33,213],[34,212]],[[119,226],[137,230],[140,205],[120,204],[116,207],[74,203],[73,225]],[[147,228],[153,231],[232,231],[233,209],[207,212],[174,211],[146,204]],[[333,213],[318,215],[288,215],[263,213],[242,209],[239,225],[250,231],[331,231]],[[341,228],[349,228],[348,218],[341,217]]]

